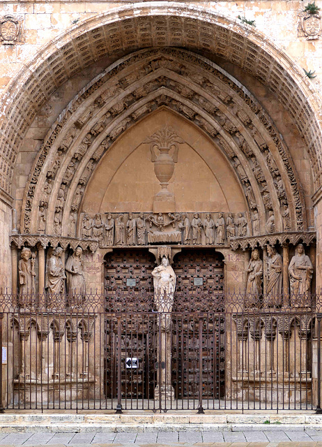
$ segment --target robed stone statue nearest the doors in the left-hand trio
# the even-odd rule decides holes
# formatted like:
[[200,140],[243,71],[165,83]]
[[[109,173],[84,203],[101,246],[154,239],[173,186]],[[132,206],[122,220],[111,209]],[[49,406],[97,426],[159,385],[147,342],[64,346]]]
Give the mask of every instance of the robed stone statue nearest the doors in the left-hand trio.
[[66,261],[67,291],[72,298],[73,305],[81,305],[85,296],[82,254],[82,248],[77,247]]

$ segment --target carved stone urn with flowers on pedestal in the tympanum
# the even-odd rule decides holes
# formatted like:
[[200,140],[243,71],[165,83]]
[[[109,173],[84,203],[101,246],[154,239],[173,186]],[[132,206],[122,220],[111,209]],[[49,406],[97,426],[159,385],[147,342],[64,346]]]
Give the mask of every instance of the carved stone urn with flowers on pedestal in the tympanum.
[[[155,196],[154,212],[174,211],[174,195],[168,190],[169,181],[174,174],[174,165],[178,161],[178,144],[183,143],[174,129],[164,126],[160,131],[148,137],[145,143],[150,143],[151,161],[154,165],[155,176],[160,182],[161,191]],[[155,209],[155,203],[164,202],[164,206]]]

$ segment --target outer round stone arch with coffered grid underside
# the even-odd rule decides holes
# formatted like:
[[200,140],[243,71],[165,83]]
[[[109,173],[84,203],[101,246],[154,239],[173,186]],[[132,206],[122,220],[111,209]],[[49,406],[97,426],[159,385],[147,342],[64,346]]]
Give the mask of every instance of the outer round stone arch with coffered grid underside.
[[8,87],[1,109],[1,187],[10,192],[22,139],[57,87],[105,55],[116,60],[139,48],[167,46],[217,54],[267,85],[298,126],[319,187],[321,108],[302,70],[259,31],[182,3],[140,3],[96,15],[54,39],[22,68]]

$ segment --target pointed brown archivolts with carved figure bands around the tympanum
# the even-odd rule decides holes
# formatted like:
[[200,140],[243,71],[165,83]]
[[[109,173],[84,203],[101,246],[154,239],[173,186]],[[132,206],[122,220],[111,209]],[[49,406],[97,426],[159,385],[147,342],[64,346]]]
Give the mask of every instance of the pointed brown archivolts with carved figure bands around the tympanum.
[[161,106],[203,129],[227,156],[247,198],[253,235],[265,234],[268,226],[274,232],[305,230],[289,151],[261,105],[207,59],[167,48],[122,59],[60,115],[26,186],[22,232],[38,231],[40,210],[47,234],[75,236],[96,164],[121,133]]

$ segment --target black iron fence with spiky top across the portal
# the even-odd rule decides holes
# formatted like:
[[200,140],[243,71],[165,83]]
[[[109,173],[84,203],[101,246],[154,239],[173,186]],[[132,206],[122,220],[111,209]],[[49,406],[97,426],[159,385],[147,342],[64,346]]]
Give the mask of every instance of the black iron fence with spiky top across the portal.
[[148,290],[2,293],[3,408],[320,411],[322,296],[153,303]]

